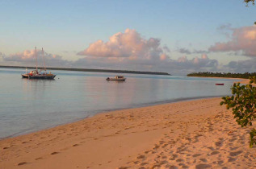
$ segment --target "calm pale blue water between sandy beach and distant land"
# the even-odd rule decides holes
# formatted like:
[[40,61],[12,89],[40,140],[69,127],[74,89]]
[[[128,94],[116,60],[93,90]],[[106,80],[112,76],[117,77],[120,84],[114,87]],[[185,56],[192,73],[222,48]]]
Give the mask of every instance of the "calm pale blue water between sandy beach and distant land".
[[[0,138],[75,122],[96,113],[230,95],[234,80],[187,76],[52,71],[55,80],[22,79],[23,69],[0,68]],[[216,86],[216,83],[225,83]]]

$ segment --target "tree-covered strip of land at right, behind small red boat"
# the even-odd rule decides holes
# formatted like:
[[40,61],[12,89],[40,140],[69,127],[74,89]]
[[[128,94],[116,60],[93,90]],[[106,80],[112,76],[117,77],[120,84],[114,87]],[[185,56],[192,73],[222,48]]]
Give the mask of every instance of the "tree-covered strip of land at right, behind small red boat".
[[191,72],[187,76],[200,77],[232,77],[249,79],[250,76],[256,76],[256,72],[232,73],[232,72]]

